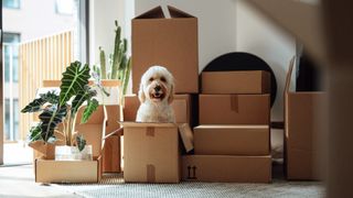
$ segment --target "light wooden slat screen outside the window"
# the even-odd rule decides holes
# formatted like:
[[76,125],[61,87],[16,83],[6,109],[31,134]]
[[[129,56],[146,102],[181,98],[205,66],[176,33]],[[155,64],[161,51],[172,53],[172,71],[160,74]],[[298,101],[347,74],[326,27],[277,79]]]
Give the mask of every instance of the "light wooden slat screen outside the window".
[[[43,87],[43,80],[58,80],[65,67],[73,62],[73,32],[39,38],[20,44],[19,103],[24,108]],[[25,140],[33,116],[20,113],[20,139]]]

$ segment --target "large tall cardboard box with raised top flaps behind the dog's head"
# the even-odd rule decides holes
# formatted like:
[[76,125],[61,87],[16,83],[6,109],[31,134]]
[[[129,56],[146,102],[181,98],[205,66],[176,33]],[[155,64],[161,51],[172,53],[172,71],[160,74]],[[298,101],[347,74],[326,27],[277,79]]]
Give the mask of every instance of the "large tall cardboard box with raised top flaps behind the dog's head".
[[168,7],[132,19],[132,92],[137,94],[142,74],[153,65],[168,68],[175,79],[176,94],[199,92],[197,19]]

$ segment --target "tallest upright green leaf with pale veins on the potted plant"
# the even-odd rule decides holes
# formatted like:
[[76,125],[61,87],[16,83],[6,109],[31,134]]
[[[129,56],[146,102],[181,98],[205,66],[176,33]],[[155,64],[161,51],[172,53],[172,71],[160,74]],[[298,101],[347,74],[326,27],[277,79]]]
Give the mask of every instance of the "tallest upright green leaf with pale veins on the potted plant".
[[73,96],[78,95],[88,85],[89,66],[83,67],[79,62],[72,63],[63,73],[62,85],[60,86],[60,106],[64,106]]

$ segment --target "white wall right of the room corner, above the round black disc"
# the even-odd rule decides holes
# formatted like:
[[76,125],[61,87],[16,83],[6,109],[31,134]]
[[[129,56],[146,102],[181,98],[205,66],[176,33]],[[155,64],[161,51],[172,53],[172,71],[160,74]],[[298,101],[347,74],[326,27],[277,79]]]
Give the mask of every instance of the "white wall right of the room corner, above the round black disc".
[[296,41],[245,0],[237,0],[236,13],[236,51],[255,54],[272,68],[277,79],[277,98],[271,120],[281,121],[286,74],[289,61],[296,54]]

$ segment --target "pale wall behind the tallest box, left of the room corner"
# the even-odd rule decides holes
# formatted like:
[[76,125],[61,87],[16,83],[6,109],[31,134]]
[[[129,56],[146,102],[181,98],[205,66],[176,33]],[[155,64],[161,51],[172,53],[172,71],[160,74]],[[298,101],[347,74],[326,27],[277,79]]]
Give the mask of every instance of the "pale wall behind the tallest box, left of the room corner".
[[157,6],[172,6],[199,19],[199,70],[215,57],[236,50],[234,0],[136,0],[136,15]]

